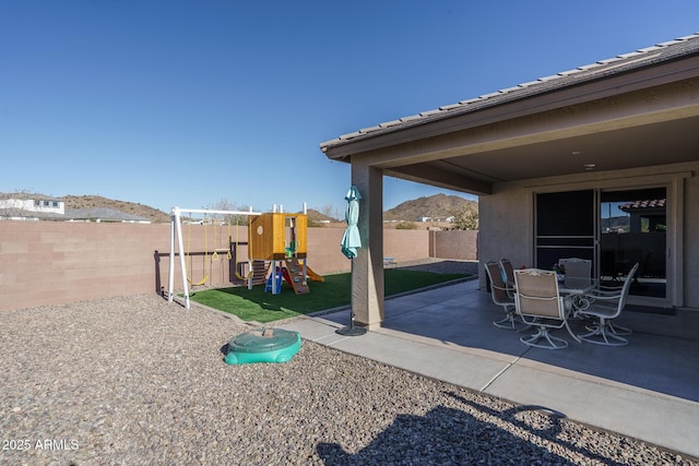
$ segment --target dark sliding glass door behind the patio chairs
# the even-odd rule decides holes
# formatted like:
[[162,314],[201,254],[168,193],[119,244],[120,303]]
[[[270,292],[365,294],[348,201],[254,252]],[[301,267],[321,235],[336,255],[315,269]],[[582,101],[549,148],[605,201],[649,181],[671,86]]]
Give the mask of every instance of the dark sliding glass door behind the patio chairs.
[[667,301],[666,188],[536,194],[536,267],[559,259],[592,260],[595,277],[620,285],[633,264],[632,301]]

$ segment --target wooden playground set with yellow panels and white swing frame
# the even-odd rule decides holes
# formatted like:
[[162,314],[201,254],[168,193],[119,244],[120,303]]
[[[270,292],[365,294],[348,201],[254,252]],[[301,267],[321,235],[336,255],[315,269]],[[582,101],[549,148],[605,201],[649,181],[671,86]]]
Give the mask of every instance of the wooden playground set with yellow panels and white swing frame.
[[[276,211],[276,208],[274,208]],[[204,228],[204,271],[200,279],[192,276],[192,256],[190,251],[191,226],[187,224],[187,250],[185,250],[182,236],[182,214],[202,214],[212,220],[213,248],[209,251],[206,218],[202,220]],[[215,216],[247,216],[248,218],[248,240],[239,241],[238,227],[236,226],[236,240],[228,234],[228,247],[218,248],[220,238],[217,231],[223,226],[217,225]],[[175,254],[176,243],[179,255],[185,306],[189,309],[189,287],[203,286],[211,279],[214,262],[223,262],[225,254],[229,264],[229,270],[235,268],[235,276],[238,280],[247,283],[249,289],[256,285],[265,285],[265,292],[280,294],[283,283],[286,282],[296,295],[310,292],[308,280],[322,282],[323,277],[316,274],[307,264],[307,224],[306,213],[259,213],[245,211],[215,211],[202,208],[180,208],[173,207],[170,225],[170,261],[168,280],[168,301],[174,298],[175,285]],[[228,222],[230,227],[230,223]],[[229,231],[229,229],[228,229]],[[220,236],[221,234],[218,234]],[[248,248],[247,262],[238,261],[240,246]],[[198,252],[198,255],[202,255]],[[235,262],[234,262],[235,261]],[[233,265],[233,267],[230,266]],[[206,268],[208,267],[208,268]],[[189,271],[189,276],[188,276]]]

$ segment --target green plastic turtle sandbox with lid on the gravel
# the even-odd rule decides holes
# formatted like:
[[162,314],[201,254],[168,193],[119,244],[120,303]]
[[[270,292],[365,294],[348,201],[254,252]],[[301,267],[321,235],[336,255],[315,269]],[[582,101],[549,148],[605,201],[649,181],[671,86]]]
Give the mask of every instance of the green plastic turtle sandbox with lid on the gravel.
[[234,336],[228,342],[224,361],[228,365],[287,362],[301,348],[298,332],[282,328],[257,328]]

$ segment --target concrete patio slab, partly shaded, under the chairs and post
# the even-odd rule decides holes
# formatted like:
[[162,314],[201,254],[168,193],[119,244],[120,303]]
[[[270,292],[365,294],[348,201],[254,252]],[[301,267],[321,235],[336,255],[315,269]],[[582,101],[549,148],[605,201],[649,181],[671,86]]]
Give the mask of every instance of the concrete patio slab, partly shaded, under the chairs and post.
[[625,312],[619,323],[633,334],[624,347],[579,344],[556,331],[570,343],[562,350],[523,345],[521,334],[493,325],[501,316],[473,280],[389,299],[383,326],[362,336],[335,333],[350,323],[346,309],[280,327],[699,458],[699,313]]

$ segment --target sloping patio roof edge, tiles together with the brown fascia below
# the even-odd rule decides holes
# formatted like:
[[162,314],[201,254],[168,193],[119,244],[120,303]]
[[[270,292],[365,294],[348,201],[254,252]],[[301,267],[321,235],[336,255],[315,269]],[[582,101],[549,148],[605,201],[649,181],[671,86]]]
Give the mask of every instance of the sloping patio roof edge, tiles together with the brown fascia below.
[[[699,75],[699,47],[692,45],[689,51],[666,53],[663,57],[660,53],[664,48],[687,44],[689,40],[696,44],[699,41],[699,34],[344,134],[321,143],[320,148],[333,160],[350,163],[353,154],[423,140],[446,131],[459,131],[612,94],[696,77]],[[590,70],[594,72],[584,74]]]

